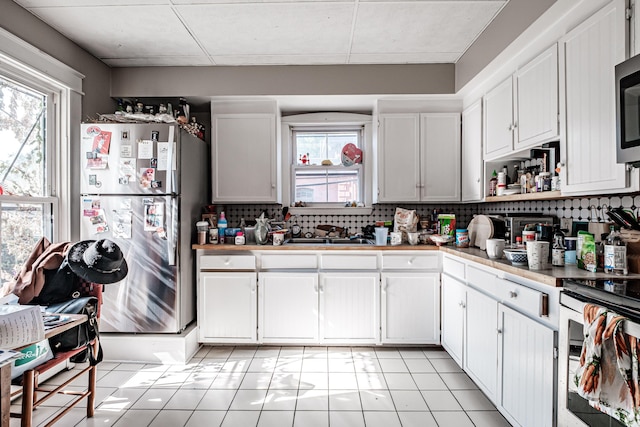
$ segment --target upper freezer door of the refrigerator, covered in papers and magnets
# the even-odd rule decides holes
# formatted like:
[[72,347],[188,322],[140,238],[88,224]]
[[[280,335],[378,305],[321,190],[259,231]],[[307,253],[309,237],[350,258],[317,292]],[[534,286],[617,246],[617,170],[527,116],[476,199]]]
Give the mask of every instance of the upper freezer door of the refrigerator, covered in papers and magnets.
[[81,128],[83,194],[179,193],[177,126],[154,124],[83,124]]

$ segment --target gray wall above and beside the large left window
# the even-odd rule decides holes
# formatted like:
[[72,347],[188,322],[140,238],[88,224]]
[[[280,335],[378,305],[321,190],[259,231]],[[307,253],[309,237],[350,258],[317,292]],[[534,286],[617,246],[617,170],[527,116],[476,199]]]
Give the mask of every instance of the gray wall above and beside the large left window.
[[49,27],[34,15],[11,0],[0,0],[0,27],[37,47],[76,71],[85,75],[82,83],[84,96],[71,96],[71,236],[79,239],[80,176],[73,165],[80,163],[80,121],[114,109],[109,97],[111,70],[103,62],[88,54],[62,34]]

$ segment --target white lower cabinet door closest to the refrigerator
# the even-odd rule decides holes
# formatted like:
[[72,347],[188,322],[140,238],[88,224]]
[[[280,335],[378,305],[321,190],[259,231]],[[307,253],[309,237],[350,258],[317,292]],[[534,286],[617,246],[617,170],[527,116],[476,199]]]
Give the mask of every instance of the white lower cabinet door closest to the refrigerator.
[[200,342],[257,342],[256,273],[200,273]]

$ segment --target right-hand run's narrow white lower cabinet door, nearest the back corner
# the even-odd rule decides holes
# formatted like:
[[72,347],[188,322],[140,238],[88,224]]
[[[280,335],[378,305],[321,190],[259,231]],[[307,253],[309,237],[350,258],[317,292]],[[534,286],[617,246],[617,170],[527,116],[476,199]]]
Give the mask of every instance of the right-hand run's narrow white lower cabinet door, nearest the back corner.
[[442,275],[442,347],[462,367],[464,316],[467,286],[446,274]]

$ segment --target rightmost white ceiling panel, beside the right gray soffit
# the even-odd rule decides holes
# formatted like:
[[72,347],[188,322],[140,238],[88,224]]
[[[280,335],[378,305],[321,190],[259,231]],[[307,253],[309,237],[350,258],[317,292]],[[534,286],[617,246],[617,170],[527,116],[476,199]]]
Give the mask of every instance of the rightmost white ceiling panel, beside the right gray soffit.
[[463,52],[504,3],[360,3],[351,53]]

